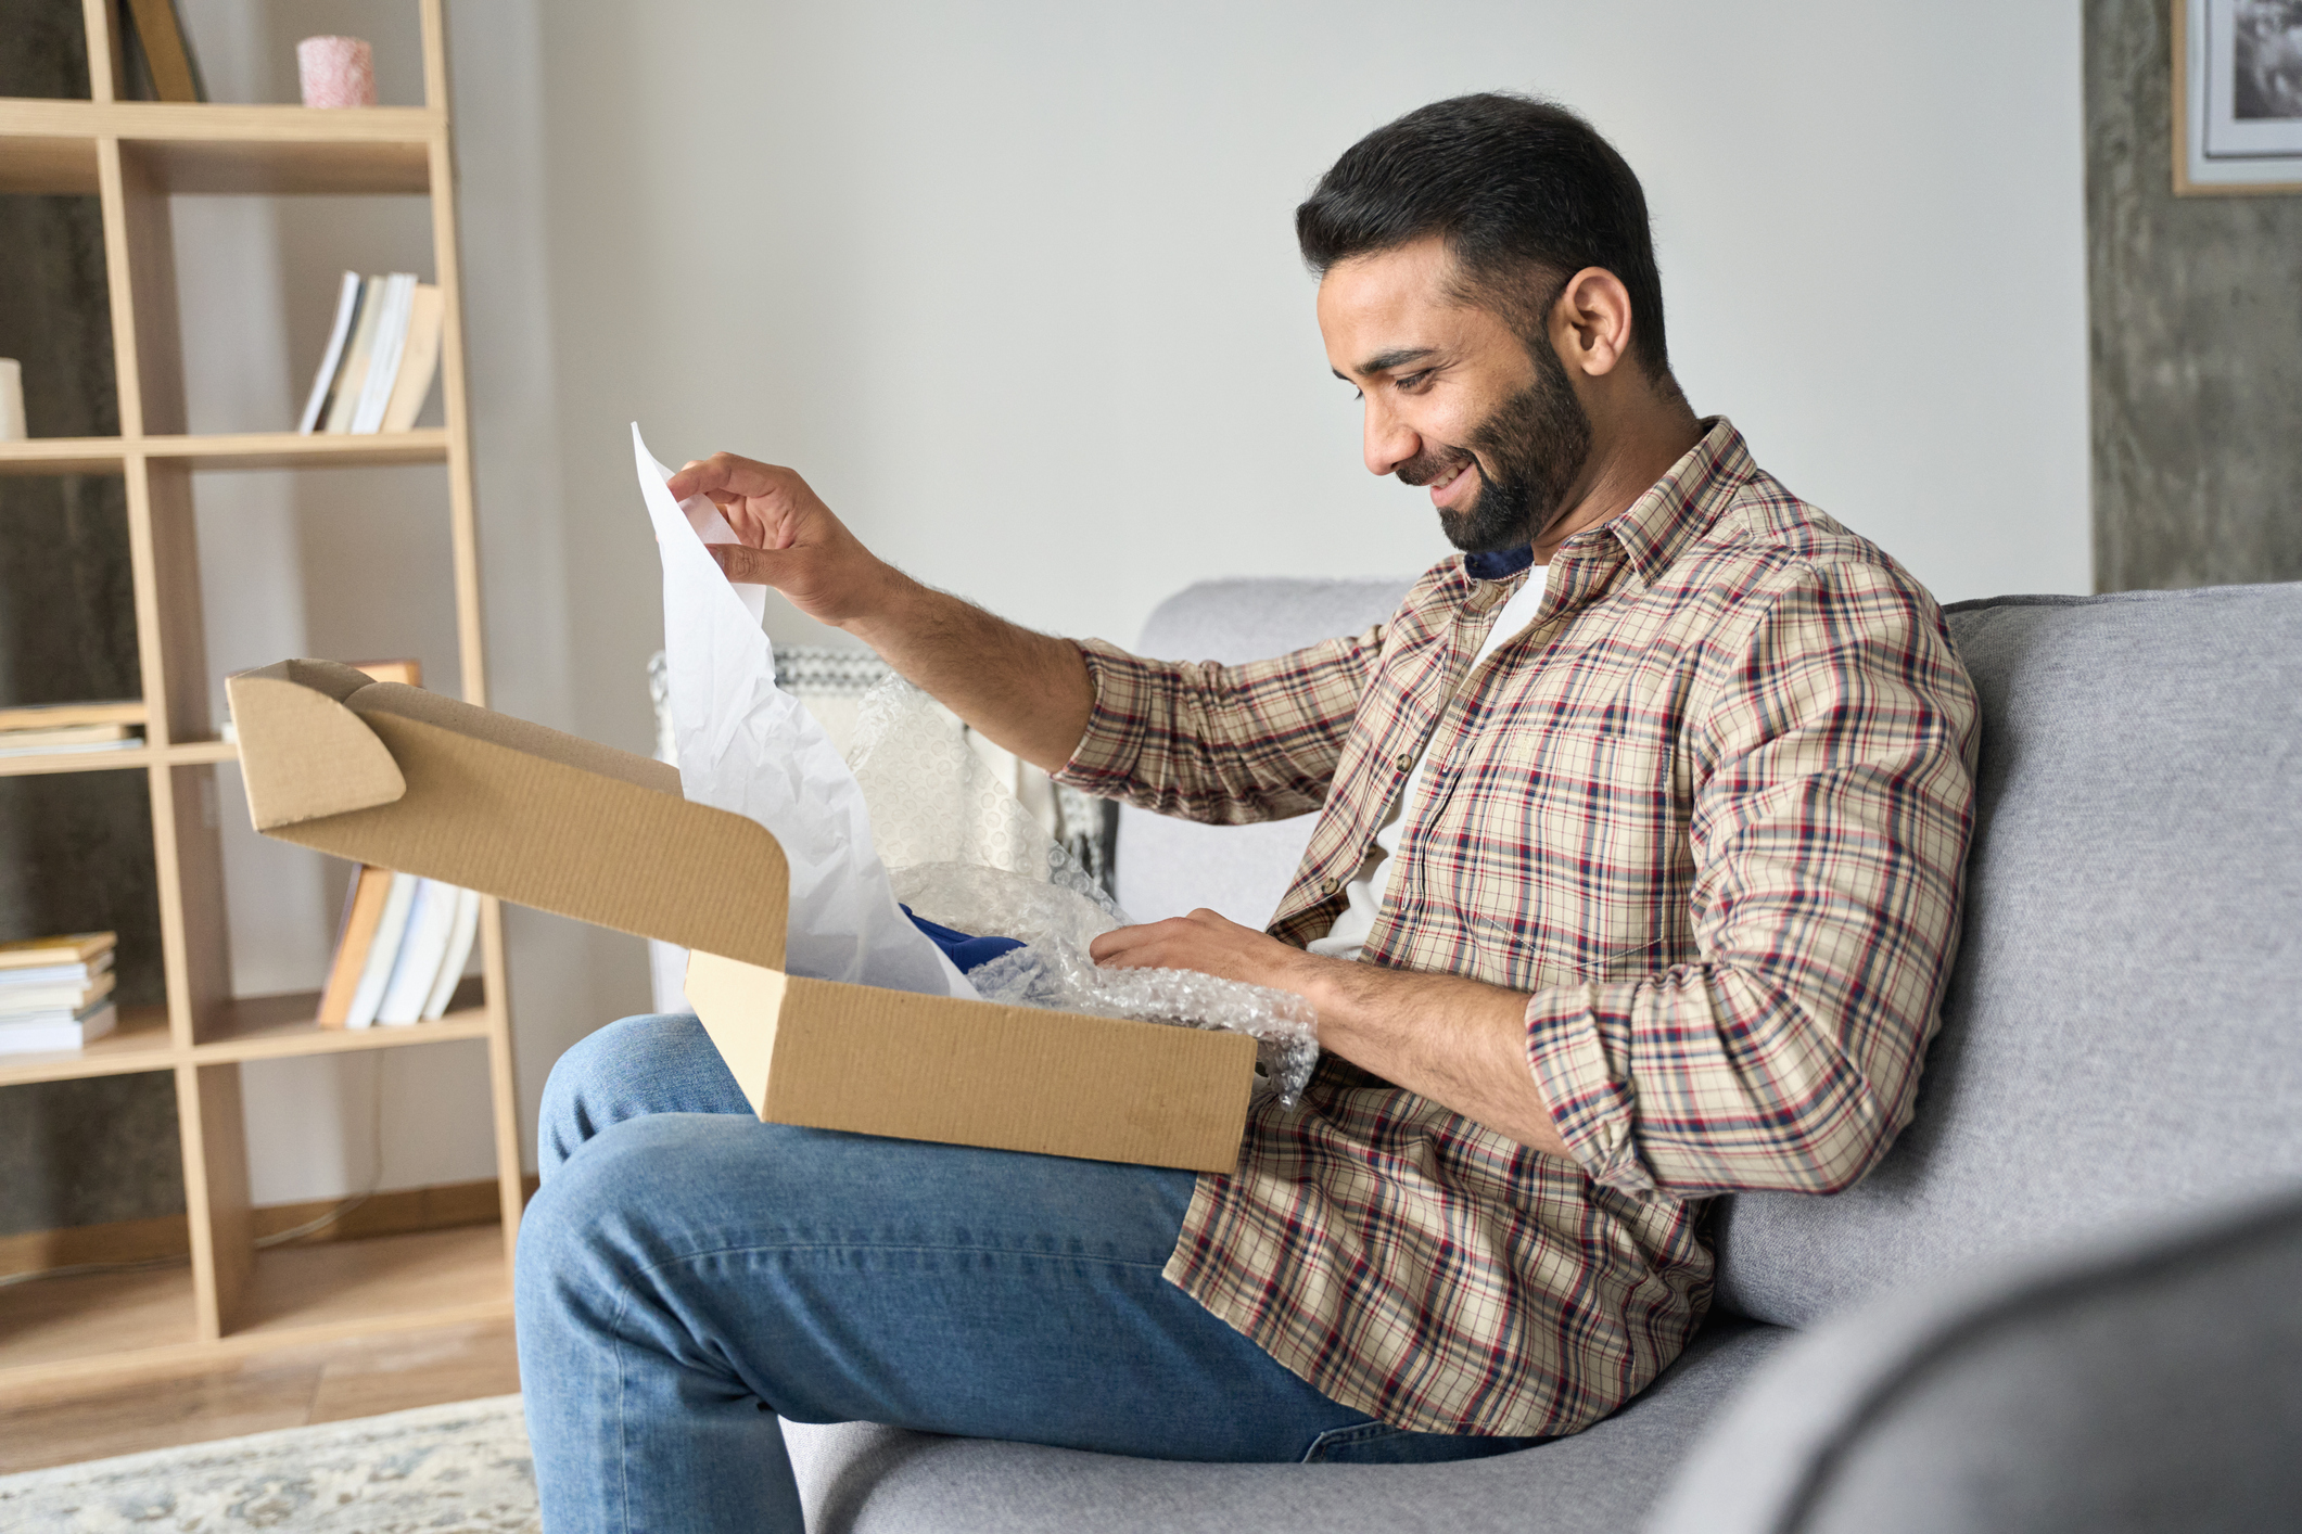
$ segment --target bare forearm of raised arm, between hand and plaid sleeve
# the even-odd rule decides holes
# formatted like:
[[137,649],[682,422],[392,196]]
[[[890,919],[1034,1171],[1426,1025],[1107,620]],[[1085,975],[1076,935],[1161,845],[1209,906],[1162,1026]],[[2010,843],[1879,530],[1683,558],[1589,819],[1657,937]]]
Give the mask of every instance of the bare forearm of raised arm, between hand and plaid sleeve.
[[1064,766],[1087,734],[1096,688],[1070,639],[1008,623],[893,568],[870,609],[840,628],[1034,766]]

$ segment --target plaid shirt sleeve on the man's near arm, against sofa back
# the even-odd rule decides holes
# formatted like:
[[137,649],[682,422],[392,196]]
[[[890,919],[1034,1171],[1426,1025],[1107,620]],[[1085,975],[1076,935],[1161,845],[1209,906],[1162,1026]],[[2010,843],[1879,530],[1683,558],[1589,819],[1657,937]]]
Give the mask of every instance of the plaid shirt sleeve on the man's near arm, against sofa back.
[[1607,1187],[1832,1194],[1911,1118],[1959,936],[1977,706],[1899,573],[1793,566],[1690,747],[1699,961],[1538,991],[1526,1046]]

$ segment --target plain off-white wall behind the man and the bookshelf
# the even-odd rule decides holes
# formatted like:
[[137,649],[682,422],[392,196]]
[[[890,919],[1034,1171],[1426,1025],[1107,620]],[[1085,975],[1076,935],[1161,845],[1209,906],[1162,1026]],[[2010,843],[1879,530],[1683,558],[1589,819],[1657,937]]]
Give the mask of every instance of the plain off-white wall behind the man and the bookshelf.
[[[203,48],[239,9],[193,7]],[[412,14],[258,9],[274,69]],[[513,713],[649,747],[633,419],[674,462],[790,462],[916,575],[1064,632],[1130,639],[1209,575],[1441,557],[1427,501],[1360,467],[1291,209],[1367,129],[1487,87],[1577,106],[1641,172],[1678,375],[1793,490],[1943,600],[2090,584],[2076,7],[465,0],[451,28]],[[290,271],[292,327],[331,271]],[[283,343],[295,386],[315,345]],[[304,547],[262,554],[276,644],[348,577],[299,501],[249,506]],[[642,998],[635,945],[513,913],[527,1102]],[[306,1134],[357,1150],[357,1088]]]

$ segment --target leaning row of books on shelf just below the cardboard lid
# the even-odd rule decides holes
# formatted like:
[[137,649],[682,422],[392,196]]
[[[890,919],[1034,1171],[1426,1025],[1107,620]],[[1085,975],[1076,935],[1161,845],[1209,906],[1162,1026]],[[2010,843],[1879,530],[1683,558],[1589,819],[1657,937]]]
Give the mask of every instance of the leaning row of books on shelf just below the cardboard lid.
[[343,897],[322,1028],[435,1021],[479,934],[479,895],[437,879],[361,867]]

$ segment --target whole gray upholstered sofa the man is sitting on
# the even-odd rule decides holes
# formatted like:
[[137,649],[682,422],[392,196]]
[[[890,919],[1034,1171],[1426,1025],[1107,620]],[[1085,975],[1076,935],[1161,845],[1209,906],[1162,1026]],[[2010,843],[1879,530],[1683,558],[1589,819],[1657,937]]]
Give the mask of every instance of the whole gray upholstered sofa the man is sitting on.
[[[1211,582],[1241,660],[1404,582]],[[1720,1198],[1697,1343],[1607,1421],[1427,1467],[790,1426],[810,1527],[2302,1527],[2302,586],[1950,609],[1982,692],[1966,936],[1918,1118],[1835,1198]],[[1121,904],[1259,922],[1308,823],[1126,812]]]

